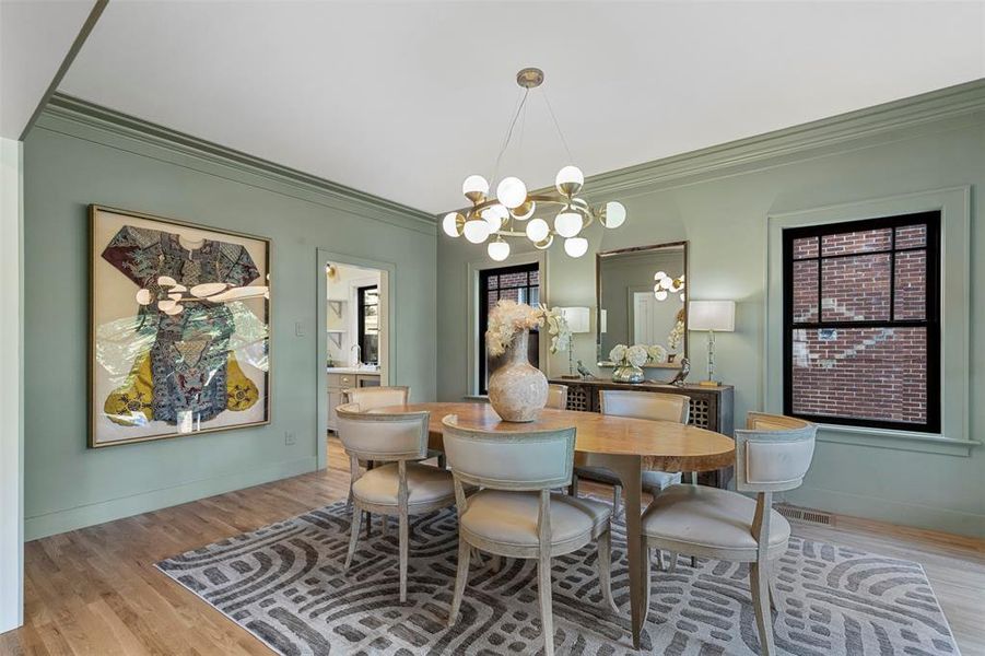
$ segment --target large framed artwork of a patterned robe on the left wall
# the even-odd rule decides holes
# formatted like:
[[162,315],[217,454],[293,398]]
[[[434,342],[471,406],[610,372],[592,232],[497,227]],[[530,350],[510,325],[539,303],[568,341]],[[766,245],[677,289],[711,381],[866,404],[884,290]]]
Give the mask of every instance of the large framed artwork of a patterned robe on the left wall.
[[89,445],[270,422],[270,241],[90,206]]

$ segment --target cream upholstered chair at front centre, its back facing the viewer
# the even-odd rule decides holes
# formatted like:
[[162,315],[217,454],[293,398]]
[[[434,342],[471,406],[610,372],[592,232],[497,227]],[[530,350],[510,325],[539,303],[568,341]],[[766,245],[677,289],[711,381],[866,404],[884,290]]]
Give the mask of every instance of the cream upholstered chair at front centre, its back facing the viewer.
[[[537,560],[544,653],[554,653],[551,559],[598,544],[602,598],[617,610],[610,587],[609,505],[551,492],[571,482],[575,429],[496,433],[444,419],[445,454],[455,477],[458,507],[458,573],[448,616],[461,607],[472,549],[501,557]],[[479,492],[466,497],[466,487]]]

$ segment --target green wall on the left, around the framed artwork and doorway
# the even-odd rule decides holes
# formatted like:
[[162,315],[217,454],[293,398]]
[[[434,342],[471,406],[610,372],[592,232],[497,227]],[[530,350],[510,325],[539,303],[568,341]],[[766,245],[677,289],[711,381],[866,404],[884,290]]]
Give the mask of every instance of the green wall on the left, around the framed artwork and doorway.
[[[26,539],[315,469],[318,247],[396,267],[395,382],[417,400],[435,395],[435,231],[426,218],[159,137],[51,112],[25,141]],[[273,239],[270,425],[86,448],[92,202]]]

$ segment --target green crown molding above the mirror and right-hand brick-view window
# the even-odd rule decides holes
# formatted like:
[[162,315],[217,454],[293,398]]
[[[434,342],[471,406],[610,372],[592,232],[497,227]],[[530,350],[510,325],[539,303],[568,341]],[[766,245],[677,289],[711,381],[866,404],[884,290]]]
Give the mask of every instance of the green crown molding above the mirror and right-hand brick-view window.
[[785,156],[804,157],[865,138],[889,136],[903,128],[983,113],[985,79],[588,176],[585,187],[591,197],[638,191],[690,176],[762,166]]

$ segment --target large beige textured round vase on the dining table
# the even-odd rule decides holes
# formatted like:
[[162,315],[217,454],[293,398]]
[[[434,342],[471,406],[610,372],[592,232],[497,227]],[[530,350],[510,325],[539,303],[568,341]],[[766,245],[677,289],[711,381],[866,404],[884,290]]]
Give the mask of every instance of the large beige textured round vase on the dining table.
[[489,378],[489,402],[504,421],[533,421],[548,402],[548,378],[527,362],[524,330],[506,349],[503,365]]

